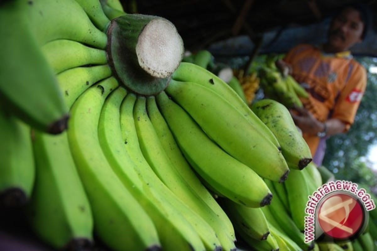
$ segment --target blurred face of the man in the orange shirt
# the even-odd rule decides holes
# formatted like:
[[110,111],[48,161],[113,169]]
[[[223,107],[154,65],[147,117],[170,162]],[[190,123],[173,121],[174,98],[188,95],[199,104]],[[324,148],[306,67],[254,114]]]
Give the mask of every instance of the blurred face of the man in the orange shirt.
[[328,43],[335,51],[343,52],[362,41],[363,29],[359,11],[346,8],[331,22]]

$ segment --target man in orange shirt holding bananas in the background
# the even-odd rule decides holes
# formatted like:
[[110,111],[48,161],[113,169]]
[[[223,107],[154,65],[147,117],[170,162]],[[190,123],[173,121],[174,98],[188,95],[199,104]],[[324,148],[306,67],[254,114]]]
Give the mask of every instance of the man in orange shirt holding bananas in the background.
[[352,58],[349,48],[365,38],[367,18],[364,6],[347,5],[332,19],[325,44],[299,44],[276,62],[309,94],[302,99],[303,108],[291,110],[291,115],[318,166],[326,138],[348,131],[366,88],[366,70]]

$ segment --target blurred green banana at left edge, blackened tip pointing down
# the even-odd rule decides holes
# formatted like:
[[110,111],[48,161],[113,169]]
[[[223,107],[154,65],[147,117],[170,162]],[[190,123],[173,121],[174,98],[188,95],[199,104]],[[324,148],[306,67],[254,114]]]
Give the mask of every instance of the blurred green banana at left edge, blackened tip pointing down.
[[30,128],[0,108],[0,207],[20,207],[29,201],[34,185]]

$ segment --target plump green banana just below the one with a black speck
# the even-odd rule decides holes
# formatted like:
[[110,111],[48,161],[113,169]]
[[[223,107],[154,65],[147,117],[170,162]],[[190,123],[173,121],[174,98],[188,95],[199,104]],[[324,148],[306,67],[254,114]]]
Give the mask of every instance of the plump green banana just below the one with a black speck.
[[227,100],[191,82],[171,80],[166,91],[225,152],[264,178],[279,182],[287,178],[289,169],[280,150]]

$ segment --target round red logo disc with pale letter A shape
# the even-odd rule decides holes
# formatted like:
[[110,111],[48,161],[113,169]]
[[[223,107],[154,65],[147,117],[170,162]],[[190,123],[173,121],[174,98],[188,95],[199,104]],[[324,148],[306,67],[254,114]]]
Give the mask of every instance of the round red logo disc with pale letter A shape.
[[323,233],[329,237],[352,239],[364,227],[365,211],[351,193],[332,193],[323,198],[317,220]]

